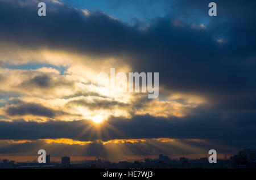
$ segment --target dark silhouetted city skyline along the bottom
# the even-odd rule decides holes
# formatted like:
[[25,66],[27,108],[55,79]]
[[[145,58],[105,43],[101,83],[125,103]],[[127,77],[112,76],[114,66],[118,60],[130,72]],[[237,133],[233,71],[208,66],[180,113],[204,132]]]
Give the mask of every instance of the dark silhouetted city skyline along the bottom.
[[14,161],[2,160],[0,163],[1,169],[57,169],[57,168],[127,168],[127,169],[139,169],[139,168],[156,168],[156,169],[230,169],[230,168],[256,168],[255,159],[256,149],[243,149],[238,155],[231,156],[229,159],[217,159],[216,164],[210,164],[207,157],[200,159],[189,159],[186,157],[180,157],[172,159],[168,156],[159,155],[158,159],[144,158],[141,161],[119,161],[118,163],[110,162],[106,160],[85,160],[78,164],[71,164],[70,157],[61,157],[61,163],[51,162],[50,155],[46,156],[46,164],[32,163],[14,163]]

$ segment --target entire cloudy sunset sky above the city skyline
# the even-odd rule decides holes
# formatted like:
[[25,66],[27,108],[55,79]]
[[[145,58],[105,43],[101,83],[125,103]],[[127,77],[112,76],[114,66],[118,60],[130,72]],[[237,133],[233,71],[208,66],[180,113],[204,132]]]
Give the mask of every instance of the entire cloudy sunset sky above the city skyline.
[[[255,1],[43,2],[0,0],[0,158],[255,148]],[[98,87],[110,68],[159,72],[159,97]]]

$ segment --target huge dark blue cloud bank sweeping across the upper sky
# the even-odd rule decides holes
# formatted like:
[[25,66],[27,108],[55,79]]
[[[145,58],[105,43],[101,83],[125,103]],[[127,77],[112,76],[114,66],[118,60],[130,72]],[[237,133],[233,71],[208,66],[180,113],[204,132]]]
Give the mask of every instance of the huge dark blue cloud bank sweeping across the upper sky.
[[[209,19],[204,13],[196,22],[186,22],[180,17],[193,14],[195,10],[198,11],[195,16],[203,14],[208,10],[203,6],[205,3],[189,3],[189,8],[177,3],[177,7],[186,11],[182,14],[174,11],[155,19],[146,31],[130,27],[99,11],[84,16],[82,11],[64,4],[49,4],[48,16],[40,18],[34,15],[36,9],[29,4],[20,7],[14,1],[1,3],[5,5],[1,6],[5,7],[1,10],[1,18],[8,16],[9,22],[15,22],[3,23],[2,42],[23,48],[39,50],[47,47],[97,57],[126,55],[129,59],[125,61],[133,71],[160,72],[160,84],[169,90],[167,95],[183,92],[208,96],[216,106],[230,101],[226,107],[241,104],[243,108],[242,104],[246,101],[249,104],[250,97],[254,97],[256,87],[251,82],[256,75],[255,64],[247,61],[255,57],[255,27],[249,22],[255,17],[255,12],[249,8],[254,3],[252,1],[247,6],[242,5],[248,14],[242,13],[241,16],[230,16],[240,2],[235,1],[232,5],[217,2],[223,10],[219,11],[217,18]],[[16,13],[12,14],[14,11]],[[26,19],[26,23],[17,21],[20,18]],[[191,28],[191,25],[195,26],[193,24],[203,24],[200,20],[204,18],[208,21],[207,29]],[[172,22],[181,25],[172,26]],[[20,26],[23,31],[13,33],[13,29]],[[67,33],[69,36],[65,36]],[[216,41],[218,37],[227,40],[225,45],[220,46]],[[230,100],[226,99],[227,96]]]

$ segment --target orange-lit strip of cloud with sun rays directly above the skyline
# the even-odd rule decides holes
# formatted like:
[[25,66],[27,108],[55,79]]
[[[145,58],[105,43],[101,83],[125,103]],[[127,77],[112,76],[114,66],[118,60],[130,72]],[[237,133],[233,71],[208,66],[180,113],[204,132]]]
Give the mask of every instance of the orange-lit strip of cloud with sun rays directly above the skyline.
[[[198,139],[122,139],[109,142],[78,142],[71,139],[40,139],[33,141],[0,140],[0,154],[26,156],[35,155],[40,147],[44,147],[47,153],[53,157],[70,155],[71,160],[77,156],[80,160],[86,157],[101,157],[110,161],[122,161],[128,158],[144,158],[148,156],[158,157],[160,153],[170,155],[171,158],[187,155],[186,157],[202,157],[208,152],[210,145],[214,143]],[[189,150],[187,148],[190,148]],[[222,153],[236,152],[233,149],[225,151],[215,145],[218,156]],[[61,149],[61,151],[56,151]],[[168,149],[172,149],[169,151]],[[191,151],[192,150],[192,151]],[[191,153],[192,152],[192,153]],[[7,155],[5,155],[8,153]],[[134,157],[133,157],[134,156]],[[34,156],[32,157],[34,158]],[[32,159],[33,160],[33,159]],[[30,160],[31,161],[31,160]]]

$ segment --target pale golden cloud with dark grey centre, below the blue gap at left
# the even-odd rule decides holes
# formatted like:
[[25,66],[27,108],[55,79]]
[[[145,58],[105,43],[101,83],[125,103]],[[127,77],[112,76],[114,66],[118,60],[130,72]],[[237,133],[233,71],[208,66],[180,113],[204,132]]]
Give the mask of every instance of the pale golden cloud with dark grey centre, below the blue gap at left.
[[36,70],[0,69],[0,78],[2,79],[0,89],[3,91],[3,95],[16,93],[16,95],[56,97],[70,95],[75,89],[75,76],[52,73],[57,70],[51,68],[42,67]]

